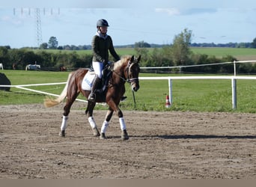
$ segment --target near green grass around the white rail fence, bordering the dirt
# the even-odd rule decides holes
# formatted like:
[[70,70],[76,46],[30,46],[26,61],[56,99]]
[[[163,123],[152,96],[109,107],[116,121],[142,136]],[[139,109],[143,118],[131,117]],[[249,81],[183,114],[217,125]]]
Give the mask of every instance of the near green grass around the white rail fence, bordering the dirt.
[[[12,85],[66,82],[67,72],[44,72],[25,70],[1,70]],[[168,74],[141,73],[140,76],[182,76]],[[188,75],[186,75],[188,76]],[[121,102],[124,110],[143,111],[234,111],[232,109],[231,80],[174,80],[173,103],[165,108],[165,96],[168,94],[167,80],[141,80],[140,90],[135,93],[136,107],[132,91],[126,84],[128,96]],[[60,94],[64,85],[30,87],[34,90]],[[42,103],[44,94],[11,88],[10,92],[0,91],[0,105]],[[81,95],[79,99],[84,99]],[[86,105],[86,104],[85,104]],[[235,112],[256,112],[255,80],[237,80],[237,110]],[[106,109],[106,106],[97,105]]]

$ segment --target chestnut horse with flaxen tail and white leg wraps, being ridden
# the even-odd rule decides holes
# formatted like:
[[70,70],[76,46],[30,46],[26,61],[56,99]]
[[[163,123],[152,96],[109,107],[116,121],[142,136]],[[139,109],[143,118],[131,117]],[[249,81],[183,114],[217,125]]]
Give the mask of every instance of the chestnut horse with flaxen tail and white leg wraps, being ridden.
[[[109,81],[106,85],[106,90],[103,92],[96,93],[95,101],[88,100],[88,105],[85,110],[85,114],[88,117],[88,122],[93,131],[93,135],[95,137],[99,137],[100,139],[106,139],[106,129],[109,126],[109,121],[112,118],[112,114],[115,113],[119,117],[119,123],[121,126],[121,139],[128,140],[129,135],[127,133],[126,123],[124,122],[124,114],[119,108],[119,103],[121,101],[121,97],[125,93],[125,83],[128,82],[132,88],[132,91],[138,91],[139,82],[138,82],[138,73],[140,71],[139,61],[141,60],[141,55],[138,58],[132,56],[124,56],[119,61],[112,64],[109,68],[110,76]],[[54,105],[58,105],[66,98],[66,104],[64,105],[64,112],[62,115],[61,122],[61,131],[59,135],[61,137],[65,137],[66,128],[67,128],[67,119],[70,114],[70,108],[76,97],[79,93],[82,93],[85,98],[88,99],[91,91],[82,89],[82,82],[84,80],[85,74],[91,73],[90,70],[85,68],[79,68],[76,71],[73,71],[69,74],[67,79],[67,84],[64,87],[64,90],[61,92],[61,95],[56,99],[46,98],[44,99],[45,107],[52,107]],[[109,110],[106,113],[105,120],[103,121],[103,125],[99,132],[97,128],[97,124],[94,121],[94,107],[96,102],[106,102],[109,105]]]

